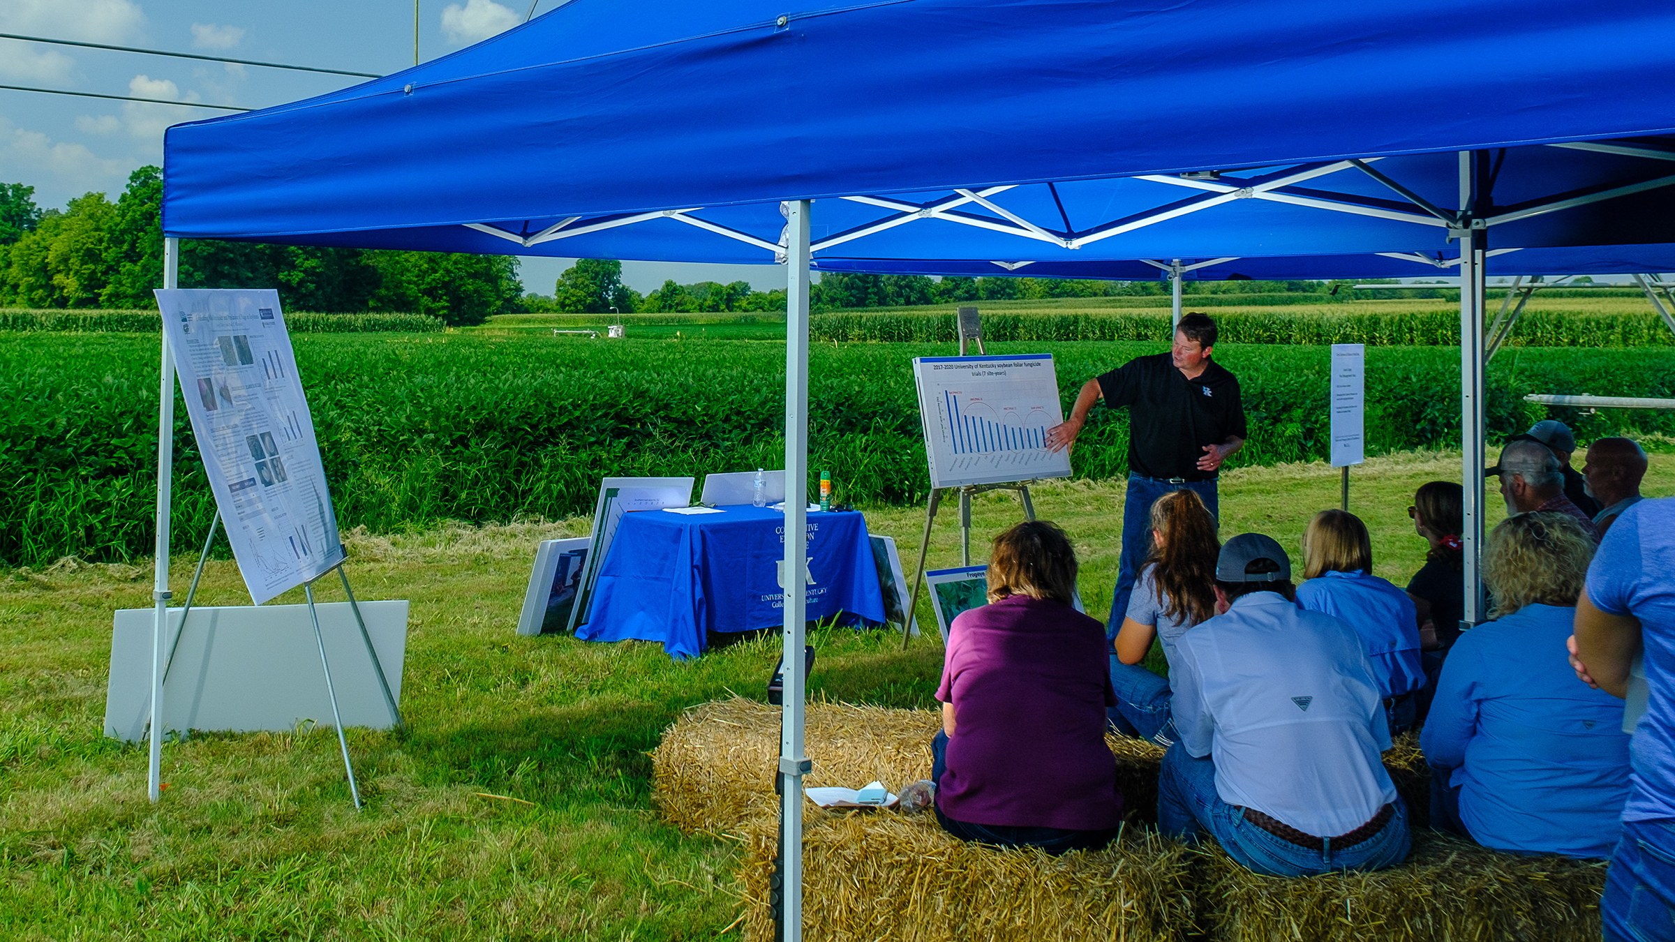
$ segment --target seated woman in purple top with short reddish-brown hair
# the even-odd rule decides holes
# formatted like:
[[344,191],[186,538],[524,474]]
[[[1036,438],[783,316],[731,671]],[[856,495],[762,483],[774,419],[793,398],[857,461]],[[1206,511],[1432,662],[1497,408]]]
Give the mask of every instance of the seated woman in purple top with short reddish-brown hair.
[[936,820],[960,840],[1062,853],[1117,833],[1106,627],[1074,597],[1070,540],[1020,523],[995,538],[990,603],[948,627],[931,779]]

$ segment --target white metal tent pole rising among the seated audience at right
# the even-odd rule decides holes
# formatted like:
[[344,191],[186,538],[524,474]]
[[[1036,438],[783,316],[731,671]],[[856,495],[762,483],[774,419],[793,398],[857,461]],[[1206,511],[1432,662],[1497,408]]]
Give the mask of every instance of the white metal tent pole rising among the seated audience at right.
[[1484,617],[1482,597],[1482,516],[1484,516],[1484,283],[1482,260],[1487,230],[1471,228],[1477,158],[1471,151],[1459,154],[1461,173],[1461,228],[1452,230],[1461,246],[1461,451],[1462,456],[1462,520],[1461,543],[1466,582],[1464,624],[1476,625]]

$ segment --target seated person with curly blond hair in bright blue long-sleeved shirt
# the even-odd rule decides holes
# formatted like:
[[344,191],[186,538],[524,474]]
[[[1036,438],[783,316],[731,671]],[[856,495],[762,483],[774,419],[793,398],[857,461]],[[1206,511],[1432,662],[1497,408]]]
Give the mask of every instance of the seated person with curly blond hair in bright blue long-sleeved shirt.
[[1606,857],[1628,796],[1623,704],[1576,682],[1564,639],[1593,538],[1524,513],[1484,543],[1494,620],[1454,642],[1419,746],[1430,826],[1523,853]]

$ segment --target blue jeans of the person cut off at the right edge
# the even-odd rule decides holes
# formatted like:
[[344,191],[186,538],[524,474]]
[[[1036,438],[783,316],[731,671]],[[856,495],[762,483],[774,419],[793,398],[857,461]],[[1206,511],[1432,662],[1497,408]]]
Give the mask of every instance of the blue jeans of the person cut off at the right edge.
[[1675,820],[1623,821],[1600,915],[1606,942],[1675,942]]

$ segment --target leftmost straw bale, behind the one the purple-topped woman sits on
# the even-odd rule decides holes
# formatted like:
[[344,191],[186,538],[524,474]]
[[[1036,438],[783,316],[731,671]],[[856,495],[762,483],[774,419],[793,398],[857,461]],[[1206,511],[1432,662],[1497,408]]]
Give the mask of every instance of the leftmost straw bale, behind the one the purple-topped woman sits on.
[[[724,833],[777,808],[779,716],[779,707],[744,697],[682,714],[652,753],[652,794],[663,820],[687,833]],[[806,717],[809,788],[876,779],[901,791],[931,774],[936,711],[811,702]]]

